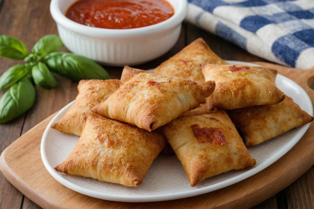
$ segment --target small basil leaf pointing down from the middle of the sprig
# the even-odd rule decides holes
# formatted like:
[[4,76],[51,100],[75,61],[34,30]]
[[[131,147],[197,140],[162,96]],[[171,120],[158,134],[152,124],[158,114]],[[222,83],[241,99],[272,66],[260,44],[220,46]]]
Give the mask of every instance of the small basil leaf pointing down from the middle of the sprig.
[[37,86],[46,89],[55,88],[57,86],[55,77],[42,62],[32,67],[32,76]]

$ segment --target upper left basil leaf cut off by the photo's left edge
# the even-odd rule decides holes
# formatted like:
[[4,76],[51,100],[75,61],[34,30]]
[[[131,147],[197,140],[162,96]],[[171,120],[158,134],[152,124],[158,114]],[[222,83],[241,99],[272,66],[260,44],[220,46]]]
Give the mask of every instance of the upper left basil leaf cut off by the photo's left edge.
[[18,39],[0,35],[0,56],[14,60],[23,60],[28,55],[26,46]]

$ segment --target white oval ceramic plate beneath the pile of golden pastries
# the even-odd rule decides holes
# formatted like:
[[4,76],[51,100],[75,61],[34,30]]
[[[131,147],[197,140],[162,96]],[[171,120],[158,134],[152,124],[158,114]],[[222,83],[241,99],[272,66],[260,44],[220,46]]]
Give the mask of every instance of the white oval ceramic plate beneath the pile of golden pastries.
[[[228,61],[230,64],[253,65],[252,63]],[[300,105],[310,115],[313,115],[312,103],[306,92],[295,82],[278,75],[276,84],[286,95]],[[267,142],[250,147],[248,150],[256,165],[250,169],[232,170],[224,174],[203,180],[191,187],[182,165],[175,155],[158,156],[143,183],[139,187],[100,182],[82,176],[66,175],[53,168],[62,163],[70,154],[77,136],[60,133],[50,128],[51,124],[59,121],[73,102],[62,108],[48,124],[41,141],[41,158],[48,172],[64,186],[87,196],[112,201],[149,202],[174,200],[196,196],[235,184],[259,171],[265,169],[285,153],[287,153],[303,136],[309,124],[294,128],[283,135]]]

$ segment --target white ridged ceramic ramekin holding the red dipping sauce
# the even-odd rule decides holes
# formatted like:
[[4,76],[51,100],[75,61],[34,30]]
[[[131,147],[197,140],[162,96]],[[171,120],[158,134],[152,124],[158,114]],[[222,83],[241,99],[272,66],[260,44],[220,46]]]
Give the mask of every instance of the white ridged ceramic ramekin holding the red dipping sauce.
[[174,15],[158,24],[135,29],[102,29],[78,24],[64,13],[76,0],[51,0],[50,13],[63,44],[75,54],[105,65],[138,65],[170,50],[179,38],[187,0],[168,0]]

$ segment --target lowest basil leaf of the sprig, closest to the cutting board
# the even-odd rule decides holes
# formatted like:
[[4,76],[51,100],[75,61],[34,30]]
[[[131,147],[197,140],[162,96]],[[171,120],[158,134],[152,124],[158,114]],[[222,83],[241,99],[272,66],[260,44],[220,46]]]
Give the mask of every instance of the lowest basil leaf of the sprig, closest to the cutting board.
[[26,112],[35,102],[35,88],[24,77],[9,88],[0,99],[0,123],[6,123]]

